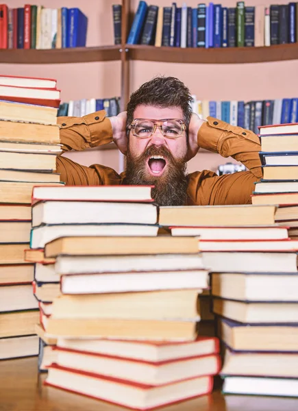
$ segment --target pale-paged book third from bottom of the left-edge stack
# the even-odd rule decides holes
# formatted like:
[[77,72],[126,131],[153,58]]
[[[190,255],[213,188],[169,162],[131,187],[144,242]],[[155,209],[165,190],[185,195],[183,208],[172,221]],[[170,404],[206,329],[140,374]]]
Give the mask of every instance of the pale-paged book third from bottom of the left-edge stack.
[[0,287],[0,312],[32,310],[38,303],[32,285],[10,285]]

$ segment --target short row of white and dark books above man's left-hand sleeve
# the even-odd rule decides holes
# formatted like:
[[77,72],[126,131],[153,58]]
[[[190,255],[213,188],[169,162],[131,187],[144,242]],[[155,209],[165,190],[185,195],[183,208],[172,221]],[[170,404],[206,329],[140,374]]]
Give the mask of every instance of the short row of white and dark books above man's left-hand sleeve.
[[80,99],[61,103],[58,109],[58,116],[83,117],[86,114],[99,110],[105,110],[108,117],[116,116],[120,113],[120,97],[112,97],[112,99]]

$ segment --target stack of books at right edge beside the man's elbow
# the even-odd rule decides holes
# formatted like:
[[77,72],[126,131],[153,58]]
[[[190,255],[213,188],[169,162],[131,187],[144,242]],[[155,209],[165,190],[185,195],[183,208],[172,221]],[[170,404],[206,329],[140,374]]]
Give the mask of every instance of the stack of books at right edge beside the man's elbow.
[[260,127],[263,178],[253,204],[278,204],[275,221],[298,236],[298,123]]

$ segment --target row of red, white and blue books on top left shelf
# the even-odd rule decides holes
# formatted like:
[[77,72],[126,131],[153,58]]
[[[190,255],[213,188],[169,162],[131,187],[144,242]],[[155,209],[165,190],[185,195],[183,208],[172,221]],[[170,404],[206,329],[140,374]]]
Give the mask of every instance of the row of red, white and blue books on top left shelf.
[[79,8],[0,4],[0,49],[85,47],[88,18]]

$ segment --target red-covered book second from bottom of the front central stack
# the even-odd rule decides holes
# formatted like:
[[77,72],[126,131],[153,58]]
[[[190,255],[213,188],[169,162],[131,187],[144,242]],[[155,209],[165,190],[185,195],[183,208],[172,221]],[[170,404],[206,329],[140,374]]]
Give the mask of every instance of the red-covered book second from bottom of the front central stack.
[[[81,353],[65,348],[54,348],[58,366],[77,371],[121,378],[127,382],[161,386],[184,379],[214,375],[219,371],[218,356],[178,358],[162,362],[148,362],[131,358]],[[294,364],[293,364],[294,366]]]

